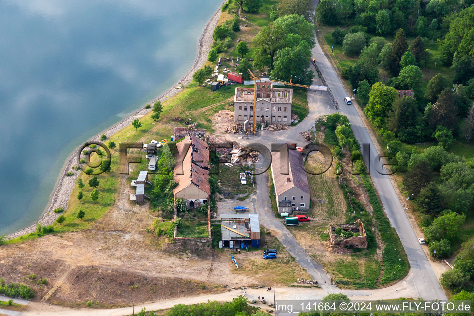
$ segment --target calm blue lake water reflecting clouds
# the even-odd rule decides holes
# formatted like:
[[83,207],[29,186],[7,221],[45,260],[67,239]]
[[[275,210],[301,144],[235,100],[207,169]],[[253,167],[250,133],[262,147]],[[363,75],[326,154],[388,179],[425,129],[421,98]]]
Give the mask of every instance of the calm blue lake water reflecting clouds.
[[68,155],[182,78],[221,0],[0,0],[0,234]]

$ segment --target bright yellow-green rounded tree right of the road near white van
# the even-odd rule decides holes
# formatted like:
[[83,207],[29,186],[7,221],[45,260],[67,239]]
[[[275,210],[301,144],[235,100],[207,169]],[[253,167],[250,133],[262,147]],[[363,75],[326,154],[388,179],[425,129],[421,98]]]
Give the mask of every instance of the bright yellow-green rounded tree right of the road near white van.
[[385,126],[385,119],[397,97],[397,90],[387,87],[382,82],[377,82],[372,86],[369,93],[369,103],[364,108],[364,113],[375,127]]

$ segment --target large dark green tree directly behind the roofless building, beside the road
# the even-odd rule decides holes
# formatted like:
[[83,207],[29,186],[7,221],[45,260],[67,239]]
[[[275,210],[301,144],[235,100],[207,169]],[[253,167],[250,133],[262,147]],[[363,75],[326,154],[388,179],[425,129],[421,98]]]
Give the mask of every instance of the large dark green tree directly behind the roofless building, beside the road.
[[313,81],[313,71],[310,70],[311,48],[306,41],[301,41],[296,47],[285,47],[278,51],[272,76],[284,81],[310,85]]

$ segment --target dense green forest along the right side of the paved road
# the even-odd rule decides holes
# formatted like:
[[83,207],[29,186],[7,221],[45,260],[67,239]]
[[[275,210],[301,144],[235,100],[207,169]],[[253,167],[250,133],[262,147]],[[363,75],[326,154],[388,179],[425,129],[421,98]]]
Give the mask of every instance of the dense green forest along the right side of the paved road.
[[472,291],[474,1],[321,0],[316,16],[342,45],[341,76],[398,165],[430,254],[461,249],[441,284]]

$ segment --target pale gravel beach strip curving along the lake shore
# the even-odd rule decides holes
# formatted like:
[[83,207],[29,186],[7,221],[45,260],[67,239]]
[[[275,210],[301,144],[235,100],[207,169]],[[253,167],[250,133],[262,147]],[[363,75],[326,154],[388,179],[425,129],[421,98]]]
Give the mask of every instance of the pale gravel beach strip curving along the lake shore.
[[[222,2],[223,4],[224,2]],[[222,6],[221,4],[221,6]],[[221,12],[221,7],[217,9],[217,11],[214,13],[214,15],[210,18],[210,20],[207,22],[207,24],[204,26],[204,29],[202,31],[201,37],[198,40],[198,50],[197,50],[197,55],[196,55],[196,61],[192,65],[190,71],[186,73],[185,76],[182,77],[182,84],[183,86],[186,86],[188,83],[191,82],[192,80],[192,74],[199,68],[201,68],[204,63],[206,63],[207,56],[209,54],[210,50],[210,45],[212,44],[212,33],[214,31],[214,28],[217,25],[217,21],[219,20],[220,12]],[[176,85],[171,87],[169,90],[164,92],[161,96],[150,100],[148,103],[153,104],[156,100],[161,100],[164,101],[171,96],[175,95],[176,93],[180,92],[181,89],[176,89]],[[144,105],[145,106],[145,105]],[[105,131],[100,132],[98,135],[95,137],[89,139],[89,141],[100,141],[100,135],[102,133],[105,133],[105,135],[113,135],[117,133],[119,130],[121,130],[124,127],[129,126],[132,121],[137,117],[137,116],[142,116],[148,113],[151,110],[151,108],[145,109],[141,108],[138,110],[135,114],[126,117],[119,121],[117,124],[114,126],[111,126],[110,128],[106,129]],[[78,149],[79,150],[79,149]],[[54,189],[54,193],[51,196],[51,199],[48,203],[47,208],[45,209],[45,212],[42,217],[38,219],[39,222],[43,223],[43,225],[48,226],[54,223],[55,219],[61,215],[61,214],[56,214],[53,212],[55,208],[62,207],[64,209],[67,208],[67,204],[69,201],[69,198],[71,196],[71,192],[73,191],[74,185],[76,183],[76,180],[79,176],[79,173],[82,171],[74,171],[74,174],[72,176],[66,176],[66,172],[71,171],[73,166],[77,165],[77,155],[78,155],[78,150],[73,152],[66,163],[64,164],[64,167],[62,169],[61,176],[59,177],[57,184]],[[7,239],[12,239],[12,238],[17,238],[21,235],[26,235],[32,232],[36,231],[36,224],[31,225],[27,228],[24,228],[16,233],[10,234],[7,236]]]

